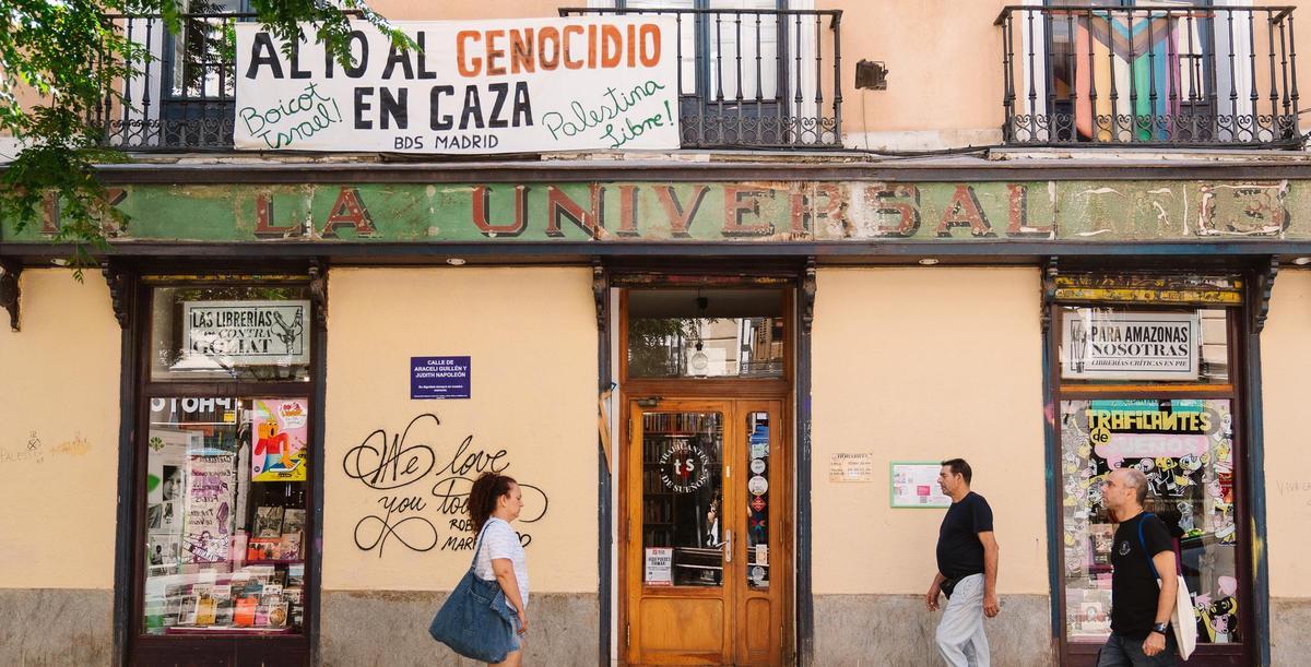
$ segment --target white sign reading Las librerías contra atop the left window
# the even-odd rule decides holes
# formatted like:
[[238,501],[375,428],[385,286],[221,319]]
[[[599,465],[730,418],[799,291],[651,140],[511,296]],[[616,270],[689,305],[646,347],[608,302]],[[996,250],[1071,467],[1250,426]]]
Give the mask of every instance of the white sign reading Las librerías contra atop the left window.
[[305,320],[309,301],[186,301],[184,356],[174,368],[298,366],[309,362]]

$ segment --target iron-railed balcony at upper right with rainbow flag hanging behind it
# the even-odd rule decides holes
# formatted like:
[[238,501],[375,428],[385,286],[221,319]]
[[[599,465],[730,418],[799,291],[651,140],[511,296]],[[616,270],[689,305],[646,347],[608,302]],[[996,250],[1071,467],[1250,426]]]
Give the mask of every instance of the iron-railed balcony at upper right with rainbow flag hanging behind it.
[[1006,143],[1301,147],[1291,7],[1150,4],[1003,9]]

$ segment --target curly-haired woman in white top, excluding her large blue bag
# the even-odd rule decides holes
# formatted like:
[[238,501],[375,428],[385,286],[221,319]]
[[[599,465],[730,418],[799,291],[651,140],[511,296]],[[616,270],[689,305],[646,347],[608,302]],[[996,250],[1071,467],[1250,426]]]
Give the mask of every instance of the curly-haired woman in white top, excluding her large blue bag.
[[469,519],[473,520],[473,532],[481,535],[473,574],[501,586],[515,617],[510,653],[503,662],[496,663],[507,667],[519,667],[523,634],[528,629],[528,561],[519,544],[519,535],[510,527],[522,508],[523,494],[513,477],[482,473],[473,482],[473,490],[469,491]]

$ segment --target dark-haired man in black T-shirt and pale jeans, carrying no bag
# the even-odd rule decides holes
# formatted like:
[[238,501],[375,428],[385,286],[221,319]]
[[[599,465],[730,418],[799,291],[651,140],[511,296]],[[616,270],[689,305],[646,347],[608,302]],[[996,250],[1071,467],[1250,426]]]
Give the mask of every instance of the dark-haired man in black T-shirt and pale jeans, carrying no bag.
[[992,536],[992,508],[970,490],[974,476],[964,459],[943,461],[937,485],[952,506],[937,531],[937,573],[924,600],[937,609],[937,594],[947,595],[947,611],[937,624],[937,650],[949,667],[987,667],[983,617],[996,616],[998,546]]

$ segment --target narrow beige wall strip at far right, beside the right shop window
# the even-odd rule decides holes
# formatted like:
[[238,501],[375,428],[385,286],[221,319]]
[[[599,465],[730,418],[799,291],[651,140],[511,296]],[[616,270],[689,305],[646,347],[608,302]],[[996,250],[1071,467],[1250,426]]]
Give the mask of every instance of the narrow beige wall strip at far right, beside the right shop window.
[[1274,283],[1261,334],[1265,417],[1266,545],[1272,598],[1311,598],[1311,474],[1306,396],[1311,377],[1311,271],[1285,270]]

